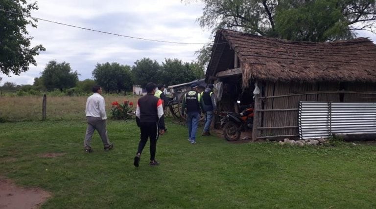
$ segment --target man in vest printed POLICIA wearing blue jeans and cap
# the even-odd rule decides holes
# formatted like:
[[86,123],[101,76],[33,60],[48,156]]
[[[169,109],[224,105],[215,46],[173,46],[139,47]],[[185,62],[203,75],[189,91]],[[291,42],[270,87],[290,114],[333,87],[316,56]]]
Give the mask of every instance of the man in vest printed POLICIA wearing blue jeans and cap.
[[196,144],[196,132],[200,121],[202,100],[201,94],[198,93],[198,85],[191,84],[190,88],[192,90],[184,94],[183,97],[182,116],[185,115],[187,108],[188,141],[191,144]]

